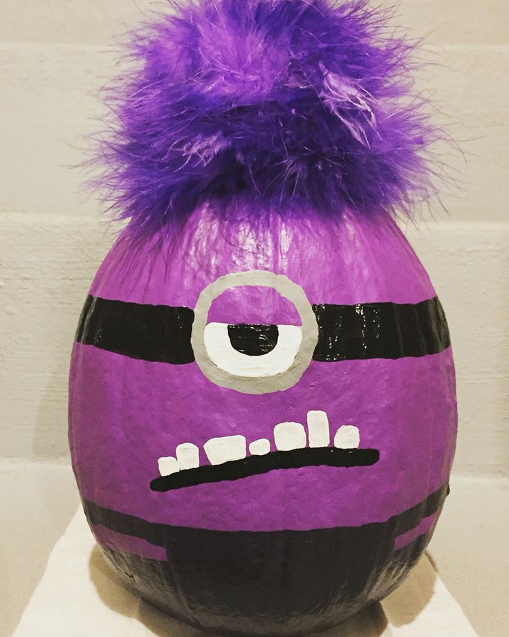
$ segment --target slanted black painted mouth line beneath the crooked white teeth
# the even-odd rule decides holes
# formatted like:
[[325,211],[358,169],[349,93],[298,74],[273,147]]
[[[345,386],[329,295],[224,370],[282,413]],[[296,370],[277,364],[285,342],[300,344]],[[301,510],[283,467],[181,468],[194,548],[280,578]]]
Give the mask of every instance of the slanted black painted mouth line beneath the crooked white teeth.
[[299,469],[302,467],[369,467],[380,459],[378,449],[336,449],[317,447],[275,451],[265,456],[249,456],[221,465],[203,465],[196,469],[185,469],[161,476],[151,481],[152,491],[165,492],[208,482],[240,480],[276,469]]

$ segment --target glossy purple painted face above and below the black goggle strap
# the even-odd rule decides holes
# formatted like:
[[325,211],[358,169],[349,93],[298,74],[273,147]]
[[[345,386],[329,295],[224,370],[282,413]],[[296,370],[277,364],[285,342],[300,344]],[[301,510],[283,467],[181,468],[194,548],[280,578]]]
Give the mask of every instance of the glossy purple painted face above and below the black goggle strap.
[[[312,225],[278,220],[248,229],[196,212],[181,234],[134,250],[115,243],[91,293],[107,299],[194,308],[217,277],[252,269],[284,274],[312,304],[418,303],[434,289],[396,224],[351,217]],[[258,294],[256,308],[250,295]],[[237,288],[218,299],[227,322],[295,322],[277,295]],[[214,317],[216,320],[216,317]],[[248,443],[280,422],[328,414],[331,431],[360,430],[376,465],[275,470],[232,482],[153,492],[158,458],[180,443],[241,434]],[[286,391],[261,396],[223,389],[196,362],[134,360],[75,344],[70,441],[84,499],[147,521],[212,530],[308,530],[386,521],[447,482],[456,438],[450,348],[398,360],[313,360]],[[333,435],[333,433],[332,433]],[[100,539],[100,538],[99,538]]]

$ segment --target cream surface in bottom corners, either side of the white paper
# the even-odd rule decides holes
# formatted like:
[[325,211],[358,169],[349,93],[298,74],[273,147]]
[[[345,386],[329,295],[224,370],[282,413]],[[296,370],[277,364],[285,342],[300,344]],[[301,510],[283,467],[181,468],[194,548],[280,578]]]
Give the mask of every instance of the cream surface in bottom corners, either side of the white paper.
[[[66,465],[3,462],[0,480],[0,637],[11,637],[77,492]],[[507,637],[508,528],[508,480],[453,479],[429,551],[479,637]]]

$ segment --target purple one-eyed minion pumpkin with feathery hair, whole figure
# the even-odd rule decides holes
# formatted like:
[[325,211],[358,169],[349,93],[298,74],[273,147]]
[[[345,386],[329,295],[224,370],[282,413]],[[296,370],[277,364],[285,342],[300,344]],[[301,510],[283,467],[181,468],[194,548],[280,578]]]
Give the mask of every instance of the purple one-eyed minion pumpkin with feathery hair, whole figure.
[[[423,184],[425,138],[409,134],[424,124],[408,104],[394,111],[398,131],[384,120],[382,98],[397,97],[384,89],[390,55],[403,45],[373,44],[380,20],[363,2],[228,0],[163,17],[136,39],[143,67],[127,86],[138,96],[122,93],[107,145],[131,221],[77,329],[69,439],[107,561],[204,629],[337,625],[405,578],[447,495],[450,337],[390,214]],[[253,79],[248,53],[262,44],[266,68]],[[385,84],[373,55],[359,55],[369,47]],[[213,75],[221,55],[228,73],[242,66],[242,82]],[[317,103],[328,110],[299,129]],[[329,156],[310,158],[306,136]],[[290,184],[275,172],[283,149]],[[290,165],[304,161],[301,183]]]

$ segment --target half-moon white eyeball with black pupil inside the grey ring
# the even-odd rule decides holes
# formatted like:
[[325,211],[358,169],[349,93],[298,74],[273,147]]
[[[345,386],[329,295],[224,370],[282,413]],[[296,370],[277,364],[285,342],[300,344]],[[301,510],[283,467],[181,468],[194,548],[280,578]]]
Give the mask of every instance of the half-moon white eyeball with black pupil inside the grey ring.
[[228,325],[205,327],[205,349],[212,362],[232,375],[259,378],[283,373],[302,342],[297,325]]

